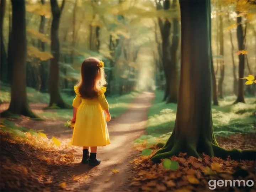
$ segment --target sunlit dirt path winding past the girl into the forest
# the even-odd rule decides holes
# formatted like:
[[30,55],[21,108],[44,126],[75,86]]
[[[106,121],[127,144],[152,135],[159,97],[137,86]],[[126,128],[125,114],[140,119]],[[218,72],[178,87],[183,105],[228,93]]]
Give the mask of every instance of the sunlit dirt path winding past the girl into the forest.
[[[151,106],[153,93],[144,92],[138,95],[129,109],[118,118],[108,123],[111,144],[98,147],[97,158],[101,164],[96,167],[81,164],[82,150],[77,147],[73,151],[74,162],[69,166],[53,166],[48,172],[53,183],[46,186],[49,191],[63,191],[59,184],[66,183],[66,191],[127,191],[132,175],[132,165],[129,161],[138,154],[133,150],[132,141],[140,137],[145,131],[147,111]],[[2,106],[3,107],[3,106]],[[5,106],[7,108],[7,106]],[[34,112],[41,112],[45,107],[31,105]],[[111,111],[110,111],[111,112]],[[27,118],[16,120],[19,126],[44,130],[48,138],[52,136],[60,140],[71,139],[73,129],[64,127],[64,120],[30,121]],[[49,157],[50,158],[50,157]],[[113,173],[118,170],[118,173]],[[72,177],[79,178],[75,182]]]

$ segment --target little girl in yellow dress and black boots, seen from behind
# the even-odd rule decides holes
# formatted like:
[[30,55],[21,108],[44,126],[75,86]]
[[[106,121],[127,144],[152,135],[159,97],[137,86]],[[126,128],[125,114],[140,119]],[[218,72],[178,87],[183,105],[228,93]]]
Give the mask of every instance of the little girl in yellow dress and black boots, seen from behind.
[[110,121],[111,116],[104,95],[106,87],[101,86],[106,84],[103,67],[104,63],[97,58],[85,59],[81,66],[81,81],[74,86],[76,97],[71,121],[75,122],[75,127],[71,144],[83,147],[82,163],[92,166],[101,162],[96,159],[97,146],[110,144],[106,121]]

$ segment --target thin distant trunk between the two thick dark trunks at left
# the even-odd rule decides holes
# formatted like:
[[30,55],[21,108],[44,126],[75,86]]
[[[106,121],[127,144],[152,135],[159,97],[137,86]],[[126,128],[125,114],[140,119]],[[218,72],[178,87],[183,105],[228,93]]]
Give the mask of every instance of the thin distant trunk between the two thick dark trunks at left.
[[[45,5],[46,0],[41,0],[42,5]],[[39,32],[44,34],[44,26],[46,24],[46,16],[41,15],[40,25],[39,25]],[[38,48],[41,48],[41,51],[45,51],[45,43],[41,41],[41,39],[38,39]],[[48,78],[48,72],[47,72],[47,61],[41,61],[41,64],[39,66],[39,76],[41,79],[41,85],[39,87],[39,90],[41,92],[46,92],[47,89],[47,78]]]

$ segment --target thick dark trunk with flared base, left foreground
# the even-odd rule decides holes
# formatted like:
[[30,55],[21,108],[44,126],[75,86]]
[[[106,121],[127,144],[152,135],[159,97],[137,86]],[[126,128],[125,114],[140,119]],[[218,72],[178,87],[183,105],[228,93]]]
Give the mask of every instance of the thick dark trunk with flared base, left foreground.
[[12,0],[12,42],[15,57],[13,58],[12,81],[11,81],[11,102],[7,111],[1,117],[8,117],[10,114],[24,115],[31,118],[33,114],[28,106],[26,91],[26,9],[25,0]]

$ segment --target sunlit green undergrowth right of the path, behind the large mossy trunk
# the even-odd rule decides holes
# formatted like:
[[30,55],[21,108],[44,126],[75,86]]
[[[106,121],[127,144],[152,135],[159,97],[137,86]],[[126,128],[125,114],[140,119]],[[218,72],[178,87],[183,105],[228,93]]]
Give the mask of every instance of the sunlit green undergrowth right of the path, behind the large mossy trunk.
[[[169,139],[175,125],[177,104],[162,102],[164,92],[157,90],[155,100],[148,112],[146,131],[135,140],[135,143],[147,142],[154,145],[160,141],[166,142]],[[237,103],[235,96],[228,96],[219,100],[219,106],[212,106],[212,118],[214,133],[216,136],[228,137],[230,134],[255,133],[255,116],[252,114],[256,109],[254,97],[245,98],[246,103]]]

